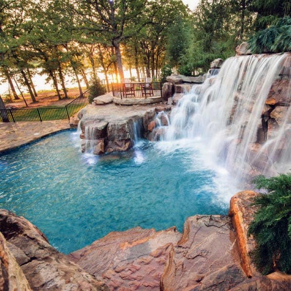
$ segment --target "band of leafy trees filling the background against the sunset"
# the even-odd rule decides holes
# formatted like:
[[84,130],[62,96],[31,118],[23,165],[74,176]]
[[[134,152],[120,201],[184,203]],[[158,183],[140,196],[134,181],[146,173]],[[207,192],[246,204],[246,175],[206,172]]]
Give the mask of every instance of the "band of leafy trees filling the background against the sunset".
[[20,83],[36,101],[36,70],[59,99],[68,97],[65,75],[80,94],[88,72],[107,85],[124,69],[138,80],[169,66],[195,75],[253,34],[253,48],[268,34],[269,51],[290,50],[290,13],[290,0],[200,0],[194,11],[182,0],[0,0],[0,78],[15,99]]

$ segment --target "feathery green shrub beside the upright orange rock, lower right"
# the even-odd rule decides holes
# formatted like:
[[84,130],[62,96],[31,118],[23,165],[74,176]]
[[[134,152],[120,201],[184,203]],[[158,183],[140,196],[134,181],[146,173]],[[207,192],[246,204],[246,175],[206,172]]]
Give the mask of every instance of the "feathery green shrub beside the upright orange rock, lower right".
[[274,267],[291,273],[291,173],[258,176],[254,183],[266,193],[254,202],[258,209],[248,234],[257,245],[251,257],[262,274],[271,273]]

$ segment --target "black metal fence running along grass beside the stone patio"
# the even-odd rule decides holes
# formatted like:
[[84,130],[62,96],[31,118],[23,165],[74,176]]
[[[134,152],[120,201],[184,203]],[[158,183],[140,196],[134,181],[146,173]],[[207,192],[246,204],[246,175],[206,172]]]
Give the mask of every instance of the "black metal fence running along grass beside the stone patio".
[[69,120],[96,96],[96,90],[91,87],[64,107],[0,109],[0,122]]

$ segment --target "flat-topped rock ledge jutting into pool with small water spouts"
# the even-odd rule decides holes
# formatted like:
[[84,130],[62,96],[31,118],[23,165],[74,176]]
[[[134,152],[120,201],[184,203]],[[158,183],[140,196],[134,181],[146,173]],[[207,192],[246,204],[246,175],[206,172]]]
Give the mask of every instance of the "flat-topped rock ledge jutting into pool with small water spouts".
[[170,110],[171,106],[165,104],[88,105],[78,114],[82,152],[91,150],[93,154],[103,154],[127,151],[134,145],[136,131],[147,138],[154,128],[156,115]]

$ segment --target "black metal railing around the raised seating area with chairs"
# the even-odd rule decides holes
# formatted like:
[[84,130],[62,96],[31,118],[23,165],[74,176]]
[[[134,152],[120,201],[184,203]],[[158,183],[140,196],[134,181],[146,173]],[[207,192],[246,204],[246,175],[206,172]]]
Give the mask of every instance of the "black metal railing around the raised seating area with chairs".
[[150,98],[162,96],[161,82],[112,83],[112,93],[117,98]]

